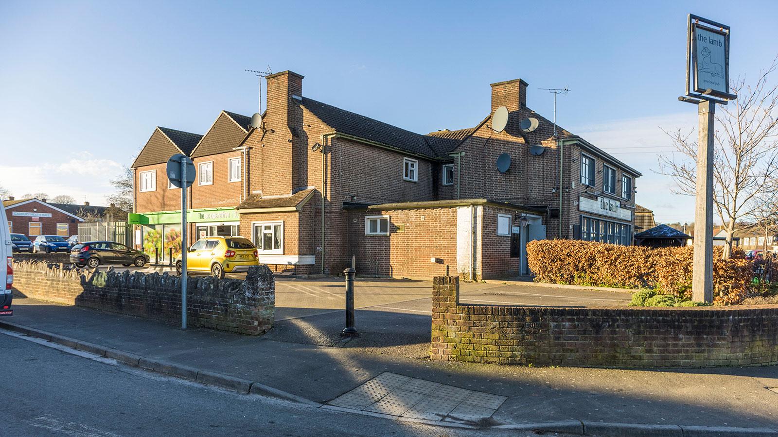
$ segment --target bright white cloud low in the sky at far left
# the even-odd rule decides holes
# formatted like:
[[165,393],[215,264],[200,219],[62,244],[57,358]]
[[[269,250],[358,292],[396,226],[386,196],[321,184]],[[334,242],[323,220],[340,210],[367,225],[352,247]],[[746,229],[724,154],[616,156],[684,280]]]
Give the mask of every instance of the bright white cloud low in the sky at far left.
[[74,152],[62,161],[24,162],[0,165],[0,186],[13,196],[47,193],[51,197],[68,194],[76,201],[103,205],[114,188],[110,180],[121,173],[121,164],[112,159],[96,159],[89,152]]

